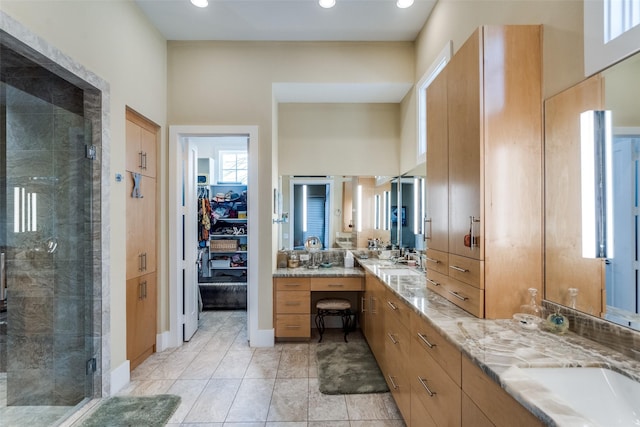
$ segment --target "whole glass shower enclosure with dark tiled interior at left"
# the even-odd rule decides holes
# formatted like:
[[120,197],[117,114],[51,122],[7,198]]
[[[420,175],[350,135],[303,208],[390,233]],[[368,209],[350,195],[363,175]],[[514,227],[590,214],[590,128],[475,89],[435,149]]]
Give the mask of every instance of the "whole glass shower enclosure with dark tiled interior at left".
[[[93,394],[96,165],[83,91],[0,45],[0,419]],[[0,422],[2,424],[2,422]]]

